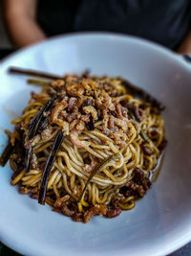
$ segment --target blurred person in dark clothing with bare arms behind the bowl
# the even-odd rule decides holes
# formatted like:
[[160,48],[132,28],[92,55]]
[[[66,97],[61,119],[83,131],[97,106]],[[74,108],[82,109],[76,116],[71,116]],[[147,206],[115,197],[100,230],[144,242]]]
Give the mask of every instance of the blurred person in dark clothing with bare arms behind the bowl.
[[191,0],[4,0],[15,47],[72,32],[116,32],[191,53]]

